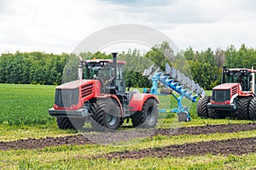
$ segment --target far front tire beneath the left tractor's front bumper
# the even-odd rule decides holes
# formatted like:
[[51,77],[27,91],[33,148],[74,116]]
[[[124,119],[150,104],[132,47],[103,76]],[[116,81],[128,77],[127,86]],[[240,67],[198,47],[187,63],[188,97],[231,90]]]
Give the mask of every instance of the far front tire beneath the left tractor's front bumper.
[[58,127],[61,129],[81,129],[84,126],[84,118],[56,117]]

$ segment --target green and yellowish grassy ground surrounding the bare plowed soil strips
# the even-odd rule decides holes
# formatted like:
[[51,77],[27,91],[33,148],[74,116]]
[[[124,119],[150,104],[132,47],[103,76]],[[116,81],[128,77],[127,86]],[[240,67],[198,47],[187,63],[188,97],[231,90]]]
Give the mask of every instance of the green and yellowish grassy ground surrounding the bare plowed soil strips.
[[[17,139],[40,139],[48,136],[60,137],[78,134],[72,130],[61,130],[55,118],[48,115],[54,103],[55,86],[0,84],[0,141]],[[208,92],[210,93],[210,92]],[[175,107],[170,97],[160,97],[160,108]],[[191,122],[177,122],[175,114],[161,114],[157,127],[193,127],[207,124],[248,123],[252,121],[230,118],[212,120],[196,116],[195,104],[191,109]],[[121,127],[119,131],[131,130]],[[113,151],[160,148],[172,144],[190,144],[221,139],[243,139],[256,137],[256,131],[211,134],[181,134],[176,136],[156,136],[146,139],[132,139],[115,144],[84,144],[50,146],[36,150],[0,150],[0,169],[251,169],[256,168],[256,152],[241,156],[202,155],[164,158],[143,157],[141,159],[92,159]],[[131,144],[132,143],[132,144]]]

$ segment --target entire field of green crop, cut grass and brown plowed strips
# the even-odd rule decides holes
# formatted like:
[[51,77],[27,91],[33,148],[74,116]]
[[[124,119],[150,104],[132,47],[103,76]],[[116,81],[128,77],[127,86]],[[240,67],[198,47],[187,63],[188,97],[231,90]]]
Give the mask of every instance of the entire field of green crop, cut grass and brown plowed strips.
[[[255,169],[256,123],[161,113],[154,129],[61,130],[48,115],[55,86],[0,84],[0,169]],[[207,92],[210,94],[211,92]],[[160,109],[175,107],[160,96]]]

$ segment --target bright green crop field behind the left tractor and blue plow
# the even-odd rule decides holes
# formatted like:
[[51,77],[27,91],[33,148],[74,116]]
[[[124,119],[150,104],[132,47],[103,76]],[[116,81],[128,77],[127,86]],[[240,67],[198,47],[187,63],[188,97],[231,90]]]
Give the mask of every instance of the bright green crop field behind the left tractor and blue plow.
[[[48,109],[54,104],[55,86],[0,84],[0,91],[0,124],[35,125],[55,122],[48,115]],[[177,107],[177,101],[172,96],[159,98],[160,109]],[[191,107],[191,116],[196,117],[195,104],[189,99],[183,99],[183,103]]]

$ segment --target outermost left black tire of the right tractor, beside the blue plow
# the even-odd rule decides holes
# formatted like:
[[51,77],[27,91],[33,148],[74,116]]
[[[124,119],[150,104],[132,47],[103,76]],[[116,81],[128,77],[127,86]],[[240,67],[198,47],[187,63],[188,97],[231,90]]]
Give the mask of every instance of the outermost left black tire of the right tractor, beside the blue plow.
[[209,116],[209,111],[207,108],[207,104],[210,102],[210,97],[206,96],[204,98],[201,98],[196,106],[197,116],[205,117],[207,118]]

